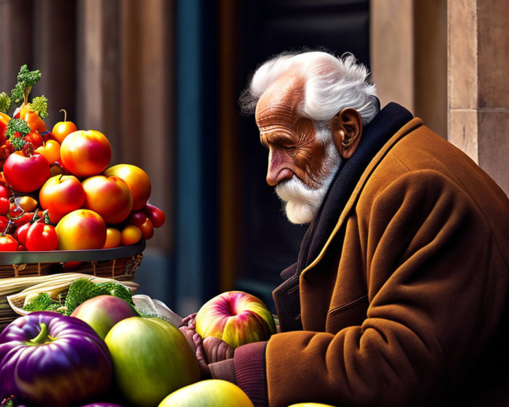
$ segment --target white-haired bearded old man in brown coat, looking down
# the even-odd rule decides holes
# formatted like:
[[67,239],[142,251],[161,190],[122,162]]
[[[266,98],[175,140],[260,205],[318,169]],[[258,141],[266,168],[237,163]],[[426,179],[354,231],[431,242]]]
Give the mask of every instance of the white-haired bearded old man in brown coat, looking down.
[[309,228],[273,293],[281,333],[212,375],[271,407],[509,405],[509,201],[408,110],[379,110],[367,74],[324,52],[254,73],[267,183]]

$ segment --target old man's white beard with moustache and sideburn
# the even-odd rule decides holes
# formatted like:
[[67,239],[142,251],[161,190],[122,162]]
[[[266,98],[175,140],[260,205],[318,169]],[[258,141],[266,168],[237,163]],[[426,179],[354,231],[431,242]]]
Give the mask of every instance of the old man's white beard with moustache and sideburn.
[[[329,137],[330,139],[331,137]],[[322,173],[318,188],[310,188],[296,176],[291,180],[277,184],[276,194],[284,203],[288,220],[295,224],[310,223],[315,219],[325,195],[330,187],[342,157],[334,143],[330,141],[325,150]]]

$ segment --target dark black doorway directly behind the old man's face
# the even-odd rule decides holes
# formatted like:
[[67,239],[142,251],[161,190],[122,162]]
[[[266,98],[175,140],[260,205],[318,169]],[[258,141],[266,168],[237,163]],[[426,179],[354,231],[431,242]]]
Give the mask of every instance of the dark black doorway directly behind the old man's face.
[[[235,76],[230,77],[235,81],[234,97],[259,64],[282,51],[351,52],[369,67],[369,0],[244,0],[237,7],[238,36],[221,40],[235,44]],[[225,202],[229,198],[223,196],[221,205],[237,207],[236,221],[230,226],[236,229],[237,239],[222,255],[237,258],[231,272],[232,288],[272,304],[272,289],[280,283],[279,273],[295,263],[306,226],[288,222],[273,188],[265,183],[267,151],[259,142],[254,119],[241,117],[238,108],[231,118],[230,125],[238,129],[233,136],[237,139],[231,140],[235,146],[231,153],[239,157],[239,188],[230,198],[234,202]],[[223,173],[221,182],[231,182],[227,178]],[[221,273],[229,271],[221,268]]]

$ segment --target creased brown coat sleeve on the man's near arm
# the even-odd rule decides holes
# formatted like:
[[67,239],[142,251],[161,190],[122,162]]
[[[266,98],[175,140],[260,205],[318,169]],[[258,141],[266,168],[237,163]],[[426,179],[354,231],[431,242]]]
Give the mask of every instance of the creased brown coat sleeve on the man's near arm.
[[[335,334],[273,335],[266,350],[271,407],[428,405],[461,380],[497,324],[499,311],[486,303],[491,230],[454,181],[410,171],[356,212],[365,237],[366,318]],[[490,301],[504,296],[501,287]]]

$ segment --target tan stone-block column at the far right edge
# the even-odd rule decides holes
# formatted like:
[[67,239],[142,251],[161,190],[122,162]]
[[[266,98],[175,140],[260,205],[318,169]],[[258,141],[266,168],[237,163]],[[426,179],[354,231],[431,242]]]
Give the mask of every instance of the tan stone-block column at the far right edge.
[[448,0],[448,140],[509,193],[506,0]]

